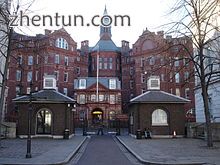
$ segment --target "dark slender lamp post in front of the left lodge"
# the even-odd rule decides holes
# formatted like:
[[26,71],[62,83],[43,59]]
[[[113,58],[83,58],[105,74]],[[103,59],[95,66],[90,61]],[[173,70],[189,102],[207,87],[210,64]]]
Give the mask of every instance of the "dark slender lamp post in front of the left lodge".
[[27,153],[26,158],[31,158],[31,112],[32,112],[32,82],[30,82],[30,94],[28,105],[28,137],[27,137]]

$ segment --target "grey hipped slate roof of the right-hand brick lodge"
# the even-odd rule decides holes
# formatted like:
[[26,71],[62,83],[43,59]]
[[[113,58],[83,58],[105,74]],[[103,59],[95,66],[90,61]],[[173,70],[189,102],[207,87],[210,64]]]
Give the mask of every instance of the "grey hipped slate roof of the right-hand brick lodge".
[[160,90],[147,91],[133,99],[130,103],[188,103],[190,100]]

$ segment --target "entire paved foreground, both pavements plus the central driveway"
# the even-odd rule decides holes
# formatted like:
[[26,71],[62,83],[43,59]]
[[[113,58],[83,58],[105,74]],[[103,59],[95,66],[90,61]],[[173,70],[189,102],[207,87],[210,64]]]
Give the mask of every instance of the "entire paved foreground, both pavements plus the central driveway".
[[[106,161],[112,164],[109,158],[117,158],[116,161],[121,161],[120,164],[129,164],[109,137],[94,135],[94,138],[89,140],[79,164],[91,164],[94,157],[95,160],[103,159],[103,164],[106,164]],[[66,164],[86,139],[87,137],[80,134],[69,140],[32,139],[32,158],[29,159],[25,158],[26,139],[4,139],[0,148],[0,164]],[[126,134],[117,136],[117,139],[143,164],[220,165],[220,142],[215,142],[210,149],[206,146],[206,141],[200,139],[135,139]]]

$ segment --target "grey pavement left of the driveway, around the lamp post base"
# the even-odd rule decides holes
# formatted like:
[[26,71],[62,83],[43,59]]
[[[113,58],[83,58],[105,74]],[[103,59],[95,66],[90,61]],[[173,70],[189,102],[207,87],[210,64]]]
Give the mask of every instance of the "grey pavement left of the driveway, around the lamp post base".
[[32,139],[32,158],[26,156],[26,139],[2,140],[0,164],[44,165],[65,164],[76,154],[86,137],[71,139]]

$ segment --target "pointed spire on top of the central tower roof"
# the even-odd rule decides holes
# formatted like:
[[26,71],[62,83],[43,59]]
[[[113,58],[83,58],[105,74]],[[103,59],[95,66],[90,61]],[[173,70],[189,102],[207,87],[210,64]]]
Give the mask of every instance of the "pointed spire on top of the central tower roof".
[[108,23],[110,21],[106,5],[105,5],[105,9],[104,9],[104,13],[103,13],[102,18],[103,18],[103,23],[100,25],[100,39],[111,39],[111,36],[112,36],[111,25],[105,26],[105,25],[108,25]]

